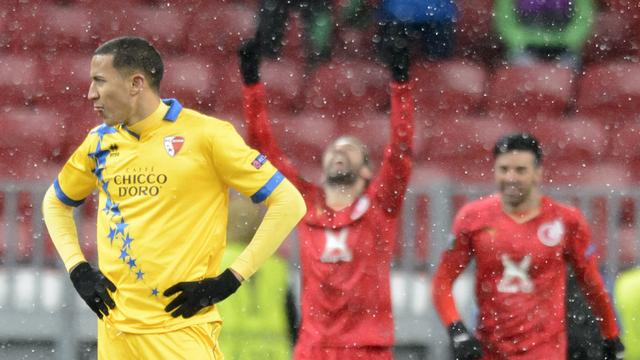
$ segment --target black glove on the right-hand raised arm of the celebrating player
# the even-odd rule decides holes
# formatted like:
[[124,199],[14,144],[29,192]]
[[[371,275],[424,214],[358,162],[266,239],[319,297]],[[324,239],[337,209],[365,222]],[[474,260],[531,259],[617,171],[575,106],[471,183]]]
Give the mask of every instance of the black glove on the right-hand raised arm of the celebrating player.
[[402,23],[389,23],[382,30],[382,60],[387,64],[393,80],[409,80],[409,42],[406,26]]

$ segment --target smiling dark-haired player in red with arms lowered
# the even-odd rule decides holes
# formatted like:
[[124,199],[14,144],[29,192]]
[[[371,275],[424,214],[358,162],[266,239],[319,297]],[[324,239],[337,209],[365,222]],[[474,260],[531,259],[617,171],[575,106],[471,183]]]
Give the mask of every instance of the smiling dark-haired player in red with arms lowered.
[[[499,192],[462,207],[453,243],[433,281],[436,310],[456,359],[564,360],[566,263],[573,266],[600,319],[605,359],[622,359],[613,307],[597,268],[595,245],[579,210],[538,189],[542,149],[529,134],[498,140],[494,148]],[[454,280],[476,260],[476,335],[460,321]]]

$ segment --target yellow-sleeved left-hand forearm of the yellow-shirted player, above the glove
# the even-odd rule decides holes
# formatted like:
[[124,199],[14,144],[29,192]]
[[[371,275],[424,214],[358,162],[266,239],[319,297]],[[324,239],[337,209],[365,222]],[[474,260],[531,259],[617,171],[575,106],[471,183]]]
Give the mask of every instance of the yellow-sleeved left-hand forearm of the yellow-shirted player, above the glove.
[[42,214],[51,240],[67,271],[78,263],[86,261],[78,242],[73,208],[58,200],[53,187],[50,187],[44,196]]

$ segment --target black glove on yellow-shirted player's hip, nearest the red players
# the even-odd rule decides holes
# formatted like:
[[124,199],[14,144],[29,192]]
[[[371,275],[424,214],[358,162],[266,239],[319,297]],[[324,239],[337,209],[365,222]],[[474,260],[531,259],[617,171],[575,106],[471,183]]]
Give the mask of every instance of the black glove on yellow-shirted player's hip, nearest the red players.
[[239,287],[240,281],[229,269],[213,278],[177,283],[164,292],[164,296],[171,296],[181,291],[164,311],[173,317],[182,315],[189,318],[203,308],[228,298]]

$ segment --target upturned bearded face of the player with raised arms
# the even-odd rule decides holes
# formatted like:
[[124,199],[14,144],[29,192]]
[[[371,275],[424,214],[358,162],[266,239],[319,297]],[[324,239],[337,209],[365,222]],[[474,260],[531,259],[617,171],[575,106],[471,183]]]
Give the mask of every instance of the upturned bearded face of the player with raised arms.
[[353,184],[364,163],[360,146],[345,139],[334,142],[323,156],[324,175],[328,182]]

